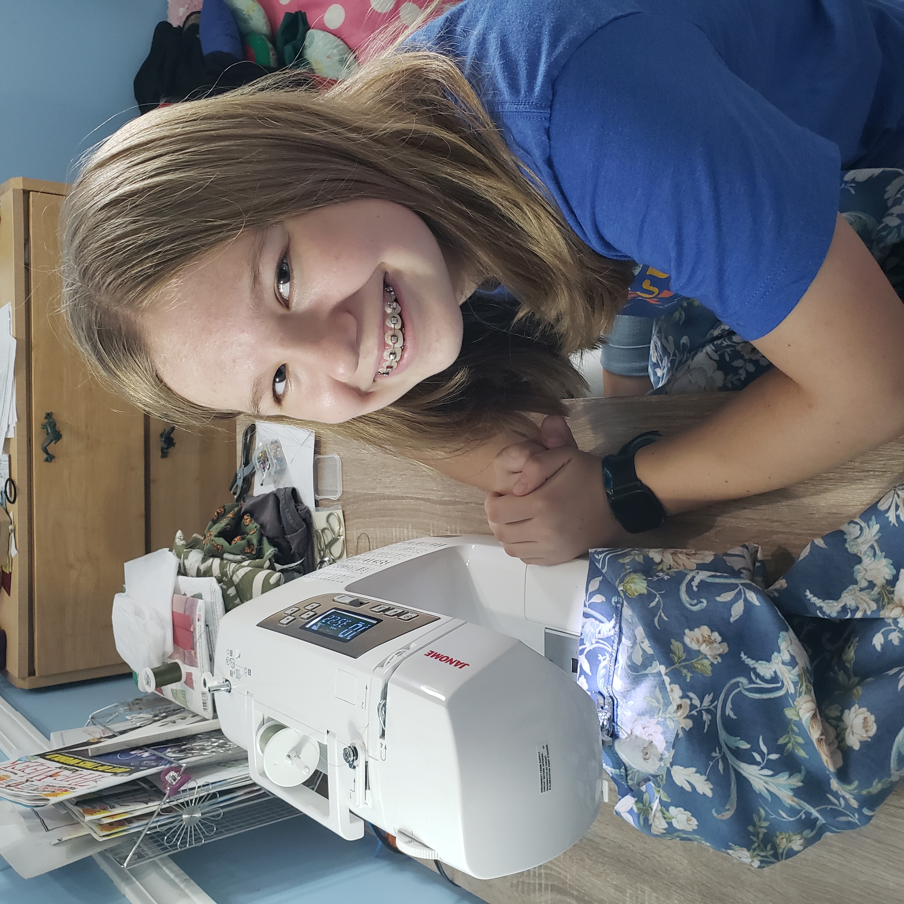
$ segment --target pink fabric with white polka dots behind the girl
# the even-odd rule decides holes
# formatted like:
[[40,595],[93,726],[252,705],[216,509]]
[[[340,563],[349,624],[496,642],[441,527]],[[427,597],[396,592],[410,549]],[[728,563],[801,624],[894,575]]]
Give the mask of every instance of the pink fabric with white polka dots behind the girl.
[[[303,12],[307,24],[341,38],[361,61],[364,42],[387,25],[407,26],[430,0],[258,0],[276,34],[283,16]],[[442,13],[448,6],[438,7]]]

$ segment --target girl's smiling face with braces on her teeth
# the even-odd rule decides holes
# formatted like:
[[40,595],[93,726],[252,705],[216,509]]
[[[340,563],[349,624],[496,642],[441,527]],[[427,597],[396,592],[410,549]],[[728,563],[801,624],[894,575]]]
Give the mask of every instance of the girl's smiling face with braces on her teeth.
[[350,201],[207,252],[142,324],[159,376],[185,399],[334,424],[453,363],[473,288],[416,213]]

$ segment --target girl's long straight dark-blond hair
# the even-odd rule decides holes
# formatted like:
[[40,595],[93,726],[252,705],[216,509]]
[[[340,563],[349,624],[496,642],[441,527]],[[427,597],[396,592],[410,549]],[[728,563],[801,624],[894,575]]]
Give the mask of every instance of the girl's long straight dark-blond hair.
[[318,429],[447,454],[500,428],[522,430],[523,412],[559,411],[560,399],[580,394],[568,355],[612,324],[629,264],[579,240],[455,63],[426,51],[383,54],[325,92],[278,73],[154,110],[99,146],[61,219],[62,307],[75,343],[103,381],[155,417],[191,424],[238,413],[166,386],[142,312],[240,231],[359,198],[418,213],[471,277],[502,283],[519,306],[500,315],[475,299],[452,367],[387,408]]

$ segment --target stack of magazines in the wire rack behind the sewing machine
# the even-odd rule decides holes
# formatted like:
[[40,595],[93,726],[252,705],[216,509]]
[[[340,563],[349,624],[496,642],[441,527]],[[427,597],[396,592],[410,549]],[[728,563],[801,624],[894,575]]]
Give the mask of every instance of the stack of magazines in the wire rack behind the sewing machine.
[[0,855],[23,875],[111,844],[125,862],[146,837],[143,862],[298,815],[251,780],[247,752],[217,720],[159,695],[61,734],[71,743],[0,762],[0,797],[28,808],[0,812]]

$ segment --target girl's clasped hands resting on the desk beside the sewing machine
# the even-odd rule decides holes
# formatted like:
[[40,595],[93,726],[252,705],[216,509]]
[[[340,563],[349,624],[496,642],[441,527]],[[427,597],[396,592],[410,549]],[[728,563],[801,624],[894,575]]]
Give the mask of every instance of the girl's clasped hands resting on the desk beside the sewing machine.
[[581,452],[568,423],[543,420],[538,439],[494,459],[484,508],[504,550],[529,565],[558,565],[599,546],[632,545],[603,490],[602,461]]

